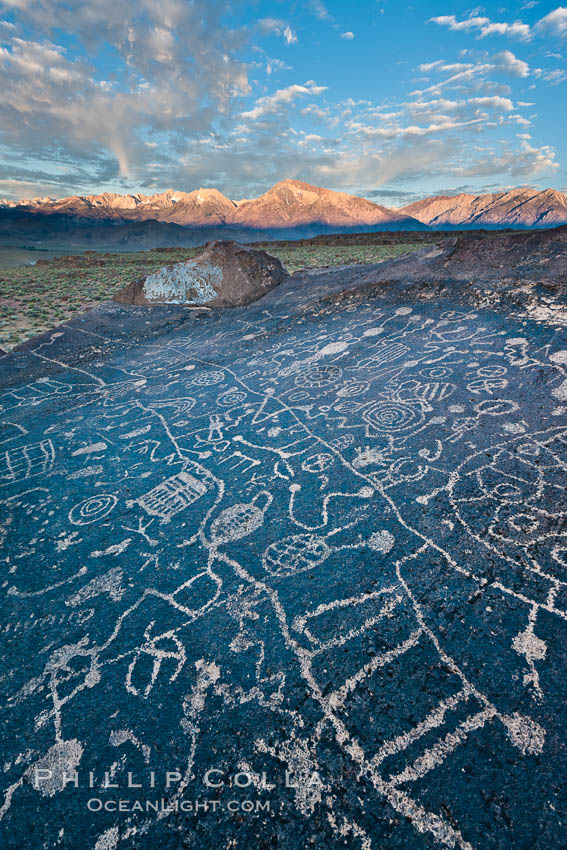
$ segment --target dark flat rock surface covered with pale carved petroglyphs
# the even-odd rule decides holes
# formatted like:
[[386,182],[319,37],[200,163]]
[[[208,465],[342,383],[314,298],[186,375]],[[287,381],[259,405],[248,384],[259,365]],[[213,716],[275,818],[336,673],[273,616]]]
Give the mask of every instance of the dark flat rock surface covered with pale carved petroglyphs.
[[0,361],[3,847],[564,846],[565,331],[380,274]]

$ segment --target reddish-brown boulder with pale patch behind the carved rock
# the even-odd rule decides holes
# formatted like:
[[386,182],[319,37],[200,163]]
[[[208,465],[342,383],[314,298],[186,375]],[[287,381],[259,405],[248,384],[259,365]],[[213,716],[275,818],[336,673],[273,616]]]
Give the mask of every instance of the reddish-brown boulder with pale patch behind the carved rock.
[[240,307],[287,277],[281,262],[238,242],[209,242],[193,260],[164,266],[114,296],[121,304]]

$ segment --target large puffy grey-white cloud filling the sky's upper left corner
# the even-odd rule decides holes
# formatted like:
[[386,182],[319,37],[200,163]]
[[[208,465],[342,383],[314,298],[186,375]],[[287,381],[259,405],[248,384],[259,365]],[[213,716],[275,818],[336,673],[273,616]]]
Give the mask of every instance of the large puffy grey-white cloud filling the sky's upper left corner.
[[[147,164],[148,134],[179,145],[210,130],[232,100],[249,91],[236,58],[241,33],[231,31],[218,2],[167,0],[28,0],[26,28],[0,49],[0,132],[26,158],[90,162],[91,180],[133,175]],[[60,30],[83,44],[69,58],[47,40]],[[98,82],[86,55],[110,46],[120,86]],[[203,104],[207,108],[203,108]]]

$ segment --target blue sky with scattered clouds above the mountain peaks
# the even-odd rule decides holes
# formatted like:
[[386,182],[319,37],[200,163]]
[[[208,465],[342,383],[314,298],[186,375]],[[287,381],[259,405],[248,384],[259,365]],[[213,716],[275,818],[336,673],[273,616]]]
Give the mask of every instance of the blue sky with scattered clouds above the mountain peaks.
[[567,190],[567,7],[0,0],[0,197]]

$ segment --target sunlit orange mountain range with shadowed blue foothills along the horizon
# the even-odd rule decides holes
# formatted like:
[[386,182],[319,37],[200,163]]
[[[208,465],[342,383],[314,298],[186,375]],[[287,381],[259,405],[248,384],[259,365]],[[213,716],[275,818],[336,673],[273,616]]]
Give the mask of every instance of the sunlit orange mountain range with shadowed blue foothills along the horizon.
[[254,199],[217,189],[153,195],[72,195],[0,201],[0,245],[138,250],[210,239],[299,239],[380,230],[541,228],[567,223],[554,189],[425,198],[390,209],[344,192],[283,180]]

